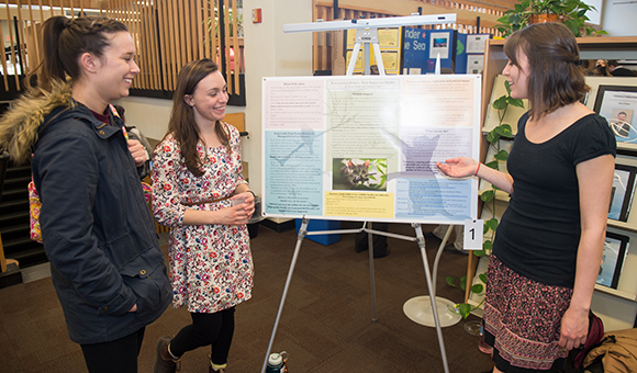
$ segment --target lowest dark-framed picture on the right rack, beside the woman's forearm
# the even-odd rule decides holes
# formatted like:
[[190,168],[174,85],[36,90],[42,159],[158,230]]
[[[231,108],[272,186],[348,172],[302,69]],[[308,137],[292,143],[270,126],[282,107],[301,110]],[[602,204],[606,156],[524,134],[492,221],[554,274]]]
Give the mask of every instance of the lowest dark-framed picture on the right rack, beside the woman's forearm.
[[624,258],[626,257],[629,245],[628,236],[606,231],[602,264],[597,273],[597,284],[617,289],[622,267],[624,265]]

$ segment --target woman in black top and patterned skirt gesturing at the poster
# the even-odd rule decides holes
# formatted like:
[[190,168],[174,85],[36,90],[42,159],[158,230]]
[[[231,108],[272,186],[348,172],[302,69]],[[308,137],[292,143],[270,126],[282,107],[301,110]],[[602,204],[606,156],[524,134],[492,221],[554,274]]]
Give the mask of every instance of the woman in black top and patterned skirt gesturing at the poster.
[[493,372],[546,372],[586,339],[616,144],[606,121],[580,103],[589,88],[568,27],[528,26],[510,36],[504,53],[511,95],[530,104],[510,173],[470,158],[437,166],[511,194],[489,265],[485,341]]

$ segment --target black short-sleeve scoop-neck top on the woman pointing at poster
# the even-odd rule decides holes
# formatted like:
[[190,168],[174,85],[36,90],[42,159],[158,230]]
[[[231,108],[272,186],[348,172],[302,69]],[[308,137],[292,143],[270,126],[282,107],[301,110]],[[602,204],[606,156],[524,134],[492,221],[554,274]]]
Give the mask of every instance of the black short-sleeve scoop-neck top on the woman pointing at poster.
[[511,201],[495,234],[493,252],[510,269],[534,281],[572,287],[581,235],[575,166],[616,155],[606,120],[589,114],[547,142],[526,138],[528,113],[517,124],[506,167]]

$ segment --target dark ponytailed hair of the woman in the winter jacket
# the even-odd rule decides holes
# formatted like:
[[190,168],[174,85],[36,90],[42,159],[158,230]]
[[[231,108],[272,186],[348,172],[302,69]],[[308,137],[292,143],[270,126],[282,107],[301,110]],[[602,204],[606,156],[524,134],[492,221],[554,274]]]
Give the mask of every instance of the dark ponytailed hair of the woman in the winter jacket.
[[110,45],[108,34],[128,32],[123,23],[105,16],[52,16],[42,25],[44,56],[37,76],[40,88],[51,91],[52,80],[81,77],[79,57],[90,53],[101,58]]

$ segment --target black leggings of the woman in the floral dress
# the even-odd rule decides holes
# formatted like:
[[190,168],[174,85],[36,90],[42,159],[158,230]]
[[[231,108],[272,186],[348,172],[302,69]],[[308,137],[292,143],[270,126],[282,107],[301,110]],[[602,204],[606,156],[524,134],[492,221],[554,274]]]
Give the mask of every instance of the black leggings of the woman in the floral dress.
[[181,329],[170,341],[170,352],[181,357],[187,351],[211,344],[211,360],[222,365],[234,334],[234,307],[214,314],[191,313],[192,324]]

